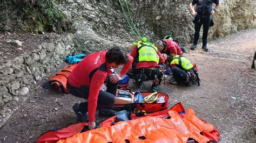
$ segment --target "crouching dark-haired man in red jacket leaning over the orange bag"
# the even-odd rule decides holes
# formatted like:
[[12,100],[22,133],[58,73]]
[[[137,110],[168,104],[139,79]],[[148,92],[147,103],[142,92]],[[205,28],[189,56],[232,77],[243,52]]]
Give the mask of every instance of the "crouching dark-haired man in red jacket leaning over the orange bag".
[[[89,119],[89,129],[96,127],[96,109],[109,109],[115,101],[118,81],[131,67],[133,58],[124,48],[114,47],[88,55],[73,69],[67,83],[70,94],[87,99],[87,102],[73,105],[78,120]],[[112,68],[124,65],[120,74],[112,74]],[[112,74],[112,75],[111,75]],[[111,76],[109,76],[111,75]],[[106,91],[100,90],[106,82]],[[86,112],[88,112],[88,117]]]

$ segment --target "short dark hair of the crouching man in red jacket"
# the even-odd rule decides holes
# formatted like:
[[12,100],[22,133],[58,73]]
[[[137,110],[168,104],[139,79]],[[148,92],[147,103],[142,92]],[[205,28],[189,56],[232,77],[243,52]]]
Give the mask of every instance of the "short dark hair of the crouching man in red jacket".
[[129,59],[125,49],[123,47],[116,46],[107,51],[106,61],[108,63],[116,62],[117,64],[125,64]]

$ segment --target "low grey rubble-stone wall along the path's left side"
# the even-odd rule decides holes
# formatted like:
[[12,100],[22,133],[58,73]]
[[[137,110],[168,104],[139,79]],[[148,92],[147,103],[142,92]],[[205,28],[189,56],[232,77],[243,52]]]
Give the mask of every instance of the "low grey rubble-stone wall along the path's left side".
[[29,95],[30,89],[52,68],[74,52],[73,36],[39,45],[29,55],[23,54],[0,66],[0,127]]

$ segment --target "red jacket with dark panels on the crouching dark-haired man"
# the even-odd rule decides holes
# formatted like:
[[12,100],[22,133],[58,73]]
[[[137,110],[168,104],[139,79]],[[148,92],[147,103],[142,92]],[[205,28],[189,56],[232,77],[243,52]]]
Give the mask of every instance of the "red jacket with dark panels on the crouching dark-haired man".
[[[100,87],[102,87],[107,76],[112,73],[110,66],[106,63],[106,52],[102,51],[88,55],[83,61],[78,63],[69,76],[69,83],[73,87],[89,86],[89,96],[87,99],[89,121],[95,120]],[[129,55],[129,62],[124,65],[121,74],[126,74],[131,67],[132,61],[133,58]]]

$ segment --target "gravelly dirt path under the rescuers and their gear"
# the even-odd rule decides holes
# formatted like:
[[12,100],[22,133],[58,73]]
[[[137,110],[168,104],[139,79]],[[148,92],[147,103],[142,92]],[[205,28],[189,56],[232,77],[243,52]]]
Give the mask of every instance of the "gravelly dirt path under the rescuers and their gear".
[[[256,70],[250,68],[256,29],[211,41],[208,47],[208,53],[199,45],[185,54],[199,67],[200,87],[167,84],[161,91],[171,95],[170,106],[181,102],[214,124],[221,132],[221,142],[256,142]],[[41,84],[0,129],[0,142],[36,141],[46,131],[75,123],[71,106],[80,99],[46,91]],[[150,89],[150,84],[143,89]]]

